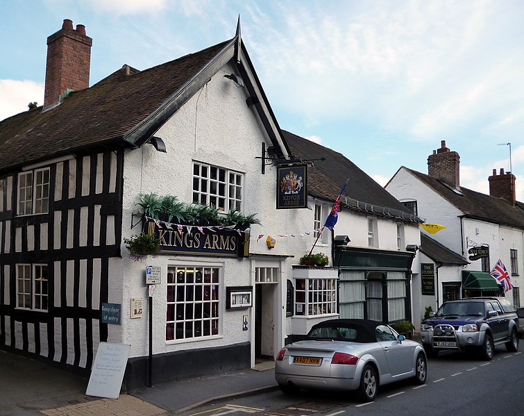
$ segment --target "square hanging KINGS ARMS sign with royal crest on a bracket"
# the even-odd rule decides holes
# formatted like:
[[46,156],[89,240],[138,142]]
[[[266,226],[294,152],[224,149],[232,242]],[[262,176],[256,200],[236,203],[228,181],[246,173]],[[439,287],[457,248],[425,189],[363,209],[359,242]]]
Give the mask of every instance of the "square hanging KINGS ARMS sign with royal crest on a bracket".
[[307,208],[307,165],[278,167],[276,209]]

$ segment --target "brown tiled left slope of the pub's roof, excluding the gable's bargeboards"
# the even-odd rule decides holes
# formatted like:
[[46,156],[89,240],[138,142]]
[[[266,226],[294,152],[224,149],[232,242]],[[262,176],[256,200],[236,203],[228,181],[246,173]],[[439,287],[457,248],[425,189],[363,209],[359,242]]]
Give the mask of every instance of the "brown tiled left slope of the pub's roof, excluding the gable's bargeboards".
[[231,41],[138,71],[124,65],[71,92],[59,106],[0,122],[0,172],[90,147],[132,145],[123,138],[198,74]]

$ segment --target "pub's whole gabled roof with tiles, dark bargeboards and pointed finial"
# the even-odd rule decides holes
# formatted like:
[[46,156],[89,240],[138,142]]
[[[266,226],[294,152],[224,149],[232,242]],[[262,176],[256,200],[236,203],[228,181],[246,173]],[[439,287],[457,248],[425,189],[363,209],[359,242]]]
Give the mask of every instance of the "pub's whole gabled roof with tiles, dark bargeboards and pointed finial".
[[0,172],[85,149],[140,147],[228,62],[255,97],[255,111],[278,153],[287,155],[237,26],[231,40],[144,71],[124,65],[90,88],[71,92],[59,106],[3,120]]

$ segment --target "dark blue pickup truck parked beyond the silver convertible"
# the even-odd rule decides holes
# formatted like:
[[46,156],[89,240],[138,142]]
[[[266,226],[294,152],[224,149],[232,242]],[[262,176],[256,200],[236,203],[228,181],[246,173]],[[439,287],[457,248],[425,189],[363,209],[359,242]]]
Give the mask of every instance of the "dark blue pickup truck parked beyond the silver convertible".
[[428,356],[439,351],[475,349],[484,360],[493,358],[496,345],[518,350],[518,317],[504,297],[459,299],[442,304],[421,325],[421,342]]

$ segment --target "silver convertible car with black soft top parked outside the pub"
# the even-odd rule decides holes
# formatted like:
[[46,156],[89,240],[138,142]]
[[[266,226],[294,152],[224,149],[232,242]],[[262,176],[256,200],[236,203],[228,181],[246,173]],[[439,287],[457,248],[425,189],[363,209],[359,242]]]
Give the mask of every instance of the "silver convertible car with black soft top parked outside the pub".
[[379,385],[405,378],[423,384],[428,376],[422,345],[382,322],[329,319],[304,338],[276,358],[275,378],[286,394],[301,388],[357,390],[362,401],[373,401]]

